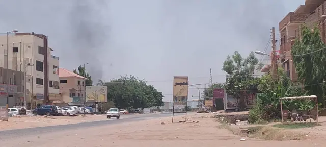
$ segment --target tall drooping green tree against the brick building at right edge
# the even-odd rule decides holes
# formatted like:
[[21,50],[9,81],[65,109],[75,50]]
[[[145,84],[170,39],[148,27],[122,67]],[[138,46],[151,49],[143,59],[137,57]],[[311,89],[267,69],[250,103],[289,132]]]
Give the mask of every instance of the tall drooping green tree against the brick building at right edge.
[[325,44],[317,27],[311,30],[303,25],[301,29],[302,36],[295,40],[291,50],[298,81],[306,85],[310,95],[318,97],[318,102],[325,104],[325,84],[318,84],[326,79],[326,50],[320,50]]

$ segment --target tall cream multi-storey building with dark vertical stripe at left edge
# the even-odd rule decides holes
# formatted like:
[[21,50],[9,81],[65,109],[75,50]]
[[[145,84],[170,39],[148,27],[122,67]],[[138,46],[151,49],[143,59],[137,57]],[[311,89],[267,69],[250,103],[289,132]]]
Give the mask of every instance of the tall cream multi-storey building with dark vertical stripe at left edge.
[[[28,105],[35,106],[60,100],[59,94],[59,57],[51,55],[47,37],[35,33],[14,33],[9,35],[9,52],[7,36],[0,36],[0,66],[26,71],[26,91]],[[45,48],[45,49],[44,49]],[[22,82],[24,85],[24,82]]]

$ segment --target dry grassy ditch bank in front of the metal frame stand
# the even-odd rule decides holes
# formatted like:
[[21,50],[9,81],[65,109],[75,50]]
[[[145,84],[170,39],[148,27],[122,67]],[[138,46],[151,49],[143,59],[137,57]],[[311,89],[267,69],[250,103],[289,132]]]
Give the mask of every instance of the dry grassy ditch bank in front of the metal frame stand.
[[242,137],[256,138],[263,140],[303,140],[306,139],[306,134],[294,132],[285,129],[279,129],[270,126],[256,126],[248,128],[235,128],[230,124],[223,124],[221,128],[230,130],[233,134]]

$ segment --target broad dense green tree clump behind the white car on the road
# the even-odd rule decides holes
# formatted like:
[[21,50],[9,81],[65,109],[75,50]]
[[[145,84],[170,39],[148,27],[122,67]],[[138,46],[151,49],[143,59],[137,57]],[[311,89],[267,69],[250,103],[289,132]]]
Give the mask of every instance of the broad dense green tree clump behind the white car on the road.
[[[120,82],[125,84],[120,84]],[[163,94],[157,91],[152,85],[147,85],[146,81],[138,80],[136,77],[121,76],[110,82],[103,82],[107,86],[108,101],[114,102],[118,108],[147,108],[162,106]]]

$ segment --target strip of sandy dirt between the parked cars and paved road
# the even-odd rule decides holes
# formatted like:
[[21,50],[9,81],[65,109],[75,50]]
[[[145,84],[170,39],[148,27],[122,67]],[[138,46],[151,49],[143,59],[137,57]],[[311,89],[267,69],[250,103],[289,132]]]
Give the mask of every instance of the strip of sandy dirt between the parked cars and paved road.
[[9,121],[0,121],[0,131],[21,128],[45,127],[53,125],[76,124],[80,122],[106,120],[104,115],[78,116],[20,116],[9,117]]

